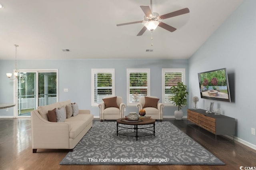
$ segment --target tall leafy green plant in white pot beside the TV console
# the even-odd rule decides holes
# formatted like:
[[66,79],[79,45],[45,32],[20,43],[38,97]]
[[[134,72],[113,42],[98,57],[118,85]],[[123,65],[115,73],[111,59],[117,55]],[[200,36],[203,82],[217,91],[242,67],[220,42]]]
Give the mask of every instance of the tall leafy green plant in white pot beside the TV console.
[[170,91],[174,96],[170,99],[175,106],[178,106],[178,111],[174,111],[175,119],[181,120],[183,111],[180,110],[182,106],[187,105],[186,95],[188,95],[187,86],[182,82],[178,82],[177,86],[172,86]]

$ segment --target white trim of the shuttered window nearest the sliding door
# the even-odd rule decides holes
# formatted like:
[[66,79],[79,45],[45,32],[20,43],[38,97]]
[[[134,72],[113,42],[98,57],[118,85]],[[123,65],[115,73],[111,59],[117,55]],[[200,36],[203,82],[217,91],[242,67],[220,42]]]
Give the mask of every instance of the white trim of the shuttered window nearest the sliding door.
[[112,96],[115,96],[115,69],[92,69],[91,70],[91,104],[98,106],[100,103],[94,102],[94,74],[95,73],[111,73],[112,74]]

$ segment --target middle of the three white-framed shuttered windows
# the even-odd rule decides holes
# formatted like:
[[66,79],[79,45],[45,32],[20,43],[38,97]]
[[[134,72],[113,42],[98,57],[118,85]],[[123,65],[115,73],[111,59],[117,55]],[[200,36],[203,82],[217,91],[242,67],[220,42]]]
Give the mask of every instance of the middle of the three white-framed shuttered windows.
[[150,95],[150,69],[127,69],[127,105],[134,106]]

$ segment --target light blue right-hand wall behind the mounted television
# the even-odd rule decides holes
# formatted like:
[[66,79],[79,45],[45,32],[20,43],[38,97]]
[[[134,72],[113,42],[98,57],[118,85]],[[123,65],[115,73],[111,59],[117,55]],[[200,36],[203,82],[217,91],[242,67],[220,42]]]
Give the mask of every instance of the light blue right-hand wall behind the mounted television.
[[[206,109],[210,102],[222,114],[237,121],[237,137],[256,145],[256,1],[245,0],[189,60],[190,97],[199,96],[197,73],[227,68],[232,103],[200,99],[198,107]],[[190,100],[189,107],[193,103]]]

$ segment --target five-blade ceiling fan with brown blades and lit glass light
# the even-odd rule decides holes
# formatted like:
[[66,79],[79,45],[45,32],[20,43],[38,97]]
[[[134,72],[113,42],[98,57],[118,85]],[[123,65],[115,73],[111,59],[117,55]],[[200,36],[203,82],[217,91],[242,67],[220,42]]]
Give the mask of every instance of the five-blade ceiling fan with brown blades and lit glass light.
[[147,29],[150,30],[151,32],[153,32],[157,28],[157,26],[160,26],[161,28],[164,28],[167,31],[174,32],[176,30],[176,28],[163,23],[162,20],[164,20],[166,18],[171,18],[174,16],[179,16],[182,14],[189,13],[189,9],[184,8],[181,10],[177,10],[177,11],[170,12],[168,14],[159,16],[158,13],[152,12],[152,0],[150,0],[150,6],[151,6],[151,10],[150,10],[149,6],[140,6],[140,8],[142,9],[142,11],[145,14],[144,20],[128,22],[128,23],[123,23],[123,24],[116,24],[116,26],[124,26],[124,25],[129,25],[129,24],[142,23],[144,25],[144,27],[140,30],[140,32],[137,34],[137,36],[142,36],[142,34],[144,34],[144,32]]

